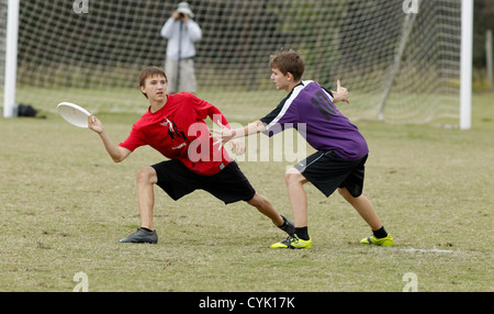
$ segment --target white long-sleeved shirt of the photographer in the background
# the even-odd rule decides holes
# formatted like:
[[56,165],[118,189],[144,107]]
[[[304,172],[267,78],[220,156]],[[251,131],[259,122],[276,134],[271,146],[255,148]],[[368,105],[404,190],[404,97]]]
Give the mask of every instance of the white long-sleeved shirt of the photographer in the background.
[[[181,38],[180,24],[182,24]],[[202,38],[202,30],[192,19],[184,23],[170,18],[161,29],[161,36],[168,38],[167,58],[178,60],[195,56],[194,43]],[[181,43],[180,57],[179,43]]]

